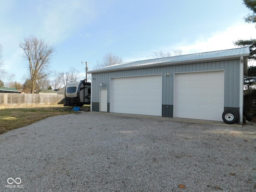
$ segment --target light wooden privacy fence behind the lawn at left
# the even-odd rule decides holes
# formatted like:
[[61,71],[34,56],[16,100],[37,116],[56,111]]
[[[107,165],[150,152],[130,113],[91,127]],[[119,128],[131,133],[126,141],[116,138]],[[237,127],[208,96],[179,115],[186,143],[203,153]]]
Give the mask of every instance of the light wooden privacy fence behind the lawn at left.
[[0,105],[53,105],[64,104],[64,95],[0,93]]

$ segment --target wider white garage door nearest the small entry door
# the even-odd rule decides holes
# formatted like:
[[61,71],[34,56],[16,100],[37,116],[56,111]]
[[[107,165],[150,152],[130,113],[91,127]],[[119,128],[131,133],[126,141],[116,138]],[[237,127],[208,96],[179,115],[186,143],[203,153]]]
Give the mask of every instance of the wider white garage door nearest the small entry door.
[[111,79],[110,112],[162,116],[162,75]]

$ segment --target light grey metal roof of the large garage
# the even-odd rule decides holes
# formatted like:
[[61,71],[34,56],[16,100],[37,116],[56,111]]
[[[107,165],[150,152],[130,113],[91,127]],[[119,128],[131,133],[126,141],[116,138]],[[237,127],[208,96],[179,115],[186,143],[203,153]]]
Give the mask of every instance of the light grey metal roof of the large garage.
[[194,63],[194,62],[203,62],[209,60],[220,60],[220,59],[231,59],[231,58],[240,58],[241,56],[249,56],[250,50],[248,47],[196,53],[189,55],[180,55],[172,56],[165,58],[157,58],[150,60],[134,61],[121,64],[115,64],[106,66],[100,69],[90,71],[88,73],[101,73],[115,70],[128,70],[132,68],[147,68],[153,66],[165,66],[165,65],[174,65],[174,64],[185,64],[185,63]]

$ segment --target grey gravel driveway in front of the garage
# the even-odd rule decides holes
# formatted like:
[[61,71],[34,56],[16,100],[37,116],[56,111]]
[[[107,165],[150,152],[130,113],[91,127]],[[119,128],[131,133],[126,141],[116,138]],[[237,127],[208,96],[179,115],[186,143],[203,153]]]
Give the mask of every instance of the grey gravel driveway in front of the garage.
[[55,116],[0,135],[0,191],[251,192],[255,143],[253,125]]

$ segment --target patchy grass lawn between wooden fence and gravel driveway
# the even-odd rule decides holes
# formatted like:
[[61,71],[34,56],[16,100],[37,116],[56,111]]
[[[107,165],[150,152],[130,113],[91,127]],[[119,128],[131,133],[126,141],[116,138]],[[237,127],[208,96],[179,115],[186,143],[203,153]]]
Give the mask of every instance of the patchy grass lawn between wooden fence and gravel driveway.
[[[66,107],[66,109],[70,109]],[[63,105],[0,106],[0,134],[24,127],[47,117],[75,113]]]

